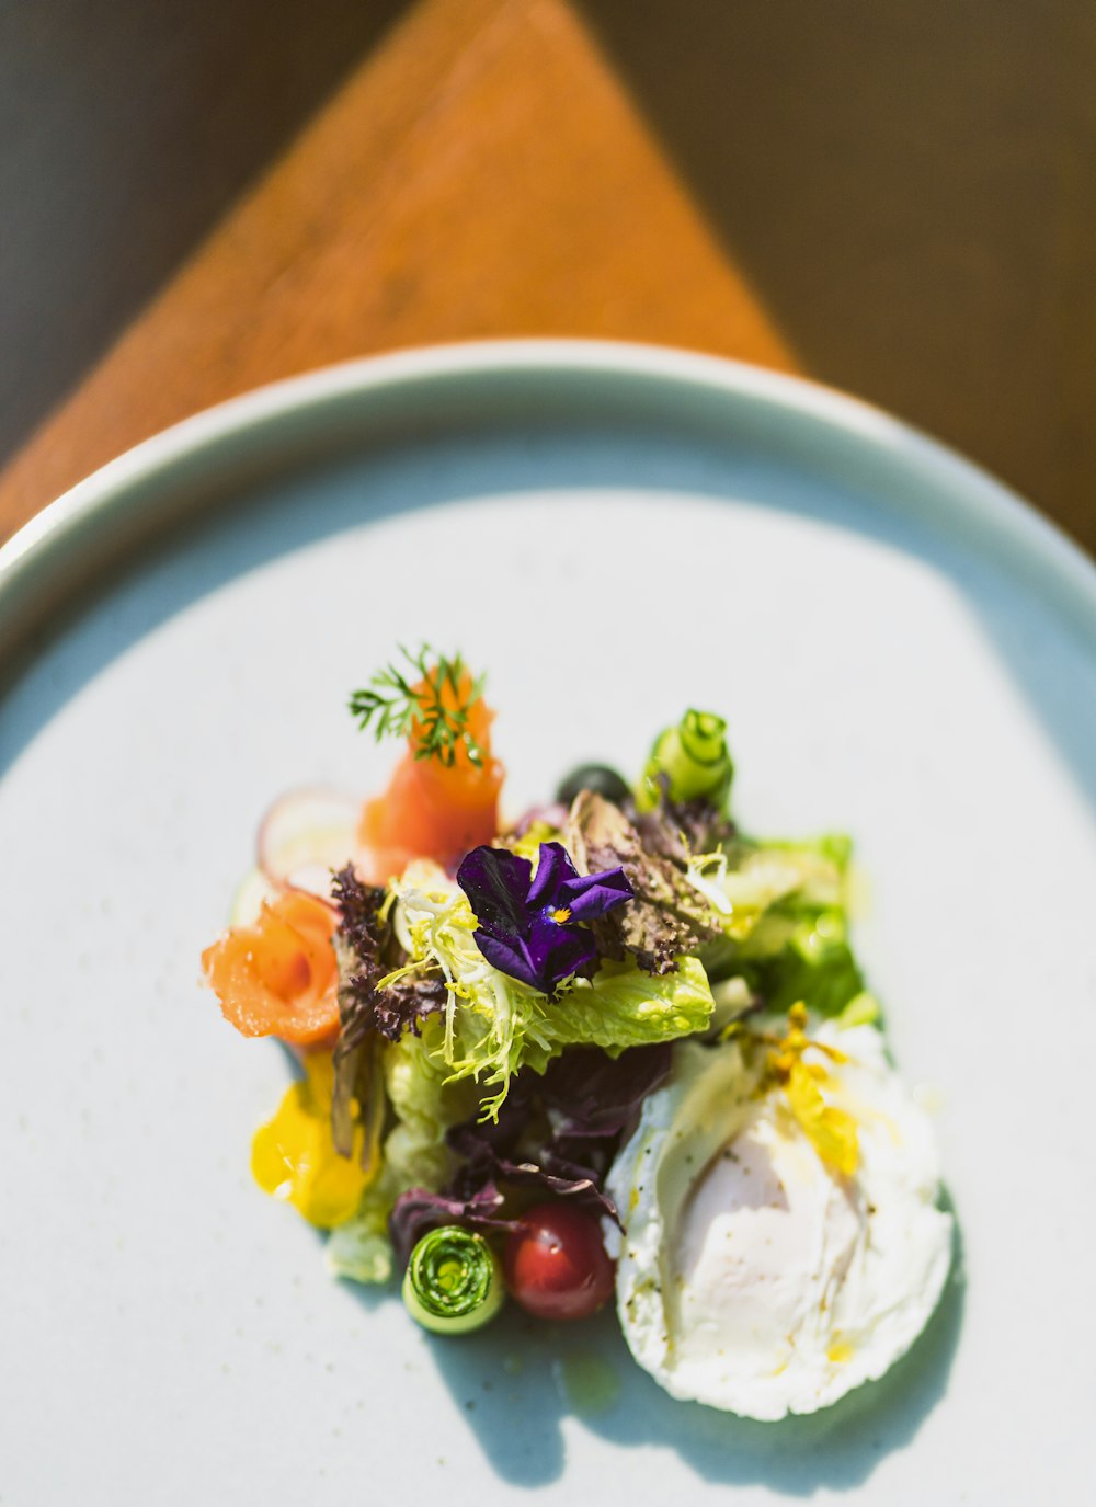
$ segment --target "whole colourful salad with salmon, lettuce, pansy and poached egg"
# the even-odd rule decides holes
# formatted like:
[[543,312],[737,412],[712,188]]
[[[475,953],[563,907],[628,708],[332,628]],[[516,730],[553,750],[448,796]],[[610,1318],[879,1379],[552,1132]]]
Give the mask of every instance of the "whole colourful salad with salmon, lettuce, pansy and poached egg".
[[283,797],[202,955],[300,1065],[259,1186],[439,1334],[615,1304],[666,1391],[764,1420],[882,1376],[953,1230],[849,940],[849,839],[746,835],[710,711],[507,821],[461,656],[404,653],[350,710],[404,743],[387,790]]

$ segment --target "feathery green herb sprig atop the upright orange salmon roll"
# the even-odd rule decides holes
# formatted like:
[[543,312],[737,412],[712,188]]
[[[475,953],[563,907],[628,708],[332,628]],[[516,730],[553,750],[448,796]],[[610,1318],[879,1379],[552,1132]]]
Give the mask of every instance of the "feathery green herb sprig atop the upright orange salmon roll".
[[[368,687],[356,690],[350,698],[350,711],[357,717],[359,728],[365,731],[372,723],[372,735],[380,743],[386,737],[407,737],[412,722],[418,722],[416,758],[436,758],[451,766],[463,744],[469,761],[476,769],[482,767],[484,749],[469,731],[467,719],[469,707],[482,693],[485,677],[469,677],[470,686],[464,692],[461,681],[469,669],[460,654],[446,659],[428,643],[418,654],[401,643],[400,653],[415,674],[386,665]],[[446,686],[452,693],[451,705],[445,699]]]

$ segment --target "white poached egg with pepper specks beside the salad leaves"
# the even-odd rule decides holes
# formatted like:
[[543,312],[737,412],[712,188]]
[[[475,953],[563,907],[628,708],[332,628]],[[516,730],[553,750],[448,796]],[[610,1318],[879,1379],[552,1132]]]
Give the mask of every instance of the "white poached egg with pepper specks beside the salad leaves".
[[760,1087],[761,1053],[683,1041],[608,1180],[632,1353],[674,1397],[746,1418],[814,1412],[882,1376],[951,1261],[933,1127],[882,1035],[828,1023],[816,1040],[844,1056],[819,1061],[856,1120],[853,1177],[826,1168],[779,1087]]

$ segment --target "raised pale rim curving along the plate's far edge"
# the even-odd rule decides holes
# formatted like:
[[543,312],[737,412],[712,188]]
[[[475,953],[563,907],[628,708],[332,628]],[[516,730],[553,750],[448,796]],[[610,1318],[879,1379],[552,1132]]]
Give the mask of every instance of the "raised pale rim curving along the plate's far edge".
[[[107,530],[122,512],[124,496],[167,475],[187,460],[235,436],[318,410],[339,399],[403,389],[437,378],[602,375],[645,377],[706,396],[760,402],[790,422],[813,420],[861,452],[874,452],[908,479],[933,488],[954,515],[1006,552],[1064,586],[1096,639],[1096,562],[1055,521],[978,463],[885,408],[811,378],[749,362],[675,347],[600,339],[481,339],[410,347],[354,357],[265,383],[202,408],[107,461],[54,502],[47,503],[0,546],[0,662],[26,633],[27,604],[41,600],[54,579],[86,589],[104,573],[113,552],[90,552],[77,562],[71,546],[90,524]],[[149,499],[139,512],[151,512]],[[187,509],[188,511],[188,509]],[[164,524],[166,526],[166,524]],[[157,530],[152,529],[155,533]],[[101,535],[103,536],[103,535]],[[8,642],[5,642],[8,640]]]

